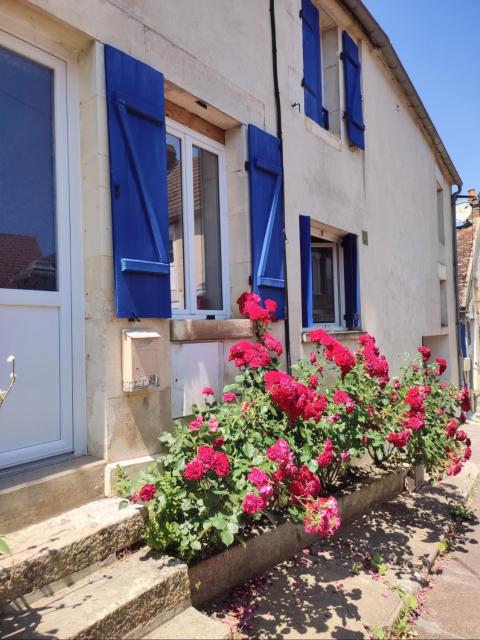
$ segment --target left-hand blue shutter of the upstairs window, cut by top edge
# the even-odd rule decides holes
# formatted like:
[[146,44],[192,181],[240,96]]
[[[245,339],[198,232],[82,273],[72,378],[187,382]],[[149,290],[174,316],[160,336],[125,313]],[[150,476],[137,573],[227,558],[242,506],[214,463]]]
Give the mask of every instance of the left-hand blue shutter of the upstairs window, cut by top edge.
[[320,17],[311,0],[302,0],[302,35],[305,115],[323,127]]

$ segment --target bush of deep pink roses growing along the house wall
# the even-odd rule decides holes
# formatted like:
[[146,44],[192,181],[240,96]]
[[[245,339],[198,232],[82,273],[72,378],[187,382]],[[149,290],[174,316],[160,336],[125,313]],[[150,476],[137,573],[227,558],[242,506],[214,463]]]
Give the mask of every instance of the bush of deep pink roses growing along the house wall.
[[470,458],[470,392],[442,381],[447,363],[429,348],[392,378],[373,336],[349,349],[314,329],[310,352],[287,373],[270,327],[275,301],[244,293],[238,305],[255,339],[230,348],[235,382],[204,387],[193,415],[162,434],[158,462],[134,483],[121,478],[126,498],[148,510],[152,548],[191,561],[249,535],[255,521],[286,517],[332,536],[335,491],[358,477],[361,455],[421,463],[433,477],[456,475]]

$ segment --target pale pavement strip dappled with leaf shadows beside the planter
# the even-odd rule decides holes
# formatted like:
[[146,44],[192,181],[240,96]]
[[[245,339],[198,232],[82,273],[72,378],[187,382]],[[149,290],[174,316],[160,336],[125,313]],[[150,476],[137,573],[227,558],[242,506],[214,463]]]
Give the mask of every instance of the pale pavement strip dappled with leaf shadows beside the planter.
[[[473,429],[480,435],[480,426]],[[451,522],[449,503],[463,499],[476,475],[476,465],[469,463],[454,479],[402,494],[346,527],[338,538],[305,549],[206,612],[228,622],[236,638],[372,637],[375,628],[389,626],[398,615],[400,592],[416,593],[423,586],[426,567]],[[480,546],[476,551],[480,570]],[[384,575],[369,568],[374,554],[383,558]],[[424,637],[434,637],[429,634]],[[438,637],[480,637],[480,624],[474,636]]]

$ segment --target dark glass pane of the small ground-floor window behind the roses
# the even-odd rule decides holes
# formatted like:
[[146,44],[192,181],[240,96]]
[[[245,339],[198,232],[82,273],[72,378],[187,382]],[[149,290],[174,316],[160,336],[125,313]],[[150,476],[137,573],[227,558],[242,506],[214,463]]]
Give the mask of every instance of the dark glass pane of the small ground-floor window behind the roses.
[[333,247],[312,247],[313,321],[335,322]]

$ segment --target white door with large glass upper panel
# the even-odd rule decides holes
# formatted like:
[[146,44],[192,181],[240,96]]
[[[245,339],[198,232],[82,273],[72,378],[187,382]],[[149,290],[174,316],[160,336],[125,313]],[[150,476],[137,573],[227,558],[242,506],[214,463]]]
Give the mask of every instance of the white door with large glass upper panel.
[[73,451],[65,62],[0,31],[0,469]]

